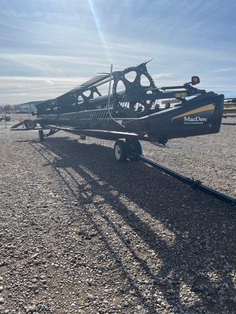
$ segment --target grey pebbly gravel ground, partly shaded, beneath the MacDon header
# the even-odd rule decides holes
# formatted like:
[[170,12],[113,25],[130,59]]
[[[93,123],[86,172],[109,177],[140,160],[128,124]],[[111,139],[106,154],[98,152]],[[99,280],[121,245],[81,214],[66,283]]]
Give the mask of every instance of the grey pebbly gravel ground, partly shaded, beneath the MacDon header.
[[[143,153],[236,197],[236,119],[223,122]],[[0,313],[236,313],[236,209],[116,164],[113,142],[39,142],[15,123],[0,122]]]

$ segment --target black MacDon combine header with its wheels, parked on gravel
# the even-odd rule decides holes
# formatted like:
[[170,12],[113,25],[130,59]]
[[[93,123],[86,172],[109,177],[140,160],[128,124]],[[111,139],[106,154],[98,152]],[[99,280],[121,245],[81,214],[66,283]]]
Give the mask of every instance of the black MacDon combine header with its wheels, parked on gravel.
[[[194,87],[200,82],[197,76],[180,86],[157,88],[148,74],[148,62],[123,71],[112,72],[111,67],[111,73],[99,74],[54,100],[36,105],[37,119],[31,124],[28,121],[28,129],[36,123],[51,128],[48,134],[39,130],[40,141],[59,130],[115,140],[116,162],[127,157],[138,161],[132,153],[142,154],[139,140],[165,147],[172,138],[219,132],[224,95]],[[98,87],[108,82],[109,93],[102,96]],[[178,103],[167,101],[164,108],[158,104],[167,99]]]

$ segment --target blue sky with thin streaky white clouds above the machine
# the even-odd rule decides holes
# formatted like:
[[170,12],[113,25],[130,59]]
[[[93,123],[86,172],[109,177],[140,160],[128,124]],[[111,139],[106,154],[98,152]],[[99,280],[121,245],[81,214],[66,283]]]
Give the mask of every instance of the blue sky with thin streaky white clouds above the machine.
[[157,87],[236,96],[235,0],[0,0],[0,105],[56,98],[154,58]]

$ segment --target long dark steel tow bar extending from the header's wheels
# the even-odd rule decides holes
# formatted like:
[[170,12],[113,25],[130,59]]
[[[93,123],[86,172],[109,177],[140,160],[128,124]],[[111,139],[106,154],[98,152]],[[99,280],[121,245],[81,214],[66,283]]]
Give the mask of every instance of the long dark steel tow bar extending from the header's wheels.
[[180,173],[173,171],[151,159],[148,159],[147,157],[144,157],[143,155],[139,155],[137,153],[133,153],[133,155],[136,155],[138,157],[140,157],[140,160],[144,161],[145,163],[148,163],[149,165],[151,165],[154,168],[157,168],[158,170],[161,170],[162,172],[167,173],[169,176],[191,186],[194,190],[199,190],[205,194],[208,194],[224,203],[230,204],[232,206],[234,206],[236,208],[236,198],[230,197],[229,195],[226,195],[224,193],[218,192],[216,190],[214,190],[213,188],[203,184],[201,181],[199,180],[194,180],[193,178],[190,179],[188,177],[185,177],[183,175],[181,175]]

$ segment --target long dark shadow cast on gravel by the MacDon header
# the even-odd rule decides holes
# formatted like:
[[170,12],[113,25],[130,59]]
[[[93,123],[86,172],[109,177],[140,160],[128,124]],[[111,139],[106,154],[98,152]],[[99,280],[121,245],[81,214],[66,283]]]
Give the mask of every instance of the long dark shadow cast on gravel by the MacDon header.
[[[172,306],[191,303],[191,300],[181,299],[181,290],[189,289],[199,299],[189,308],[193,313],[202,305],[210,313],[222,313],[222,308],[218,306],[220,298],[228,310],[233,311],[235,304],[230,298],[234,296],[232,276],[236,252],[234,209],[193,191],[145,163],[116,164],[113,149],[109,147],[65,138],[47,138],[45,142],[31,142],[31,145],[37,154],[45,158],[45,166],[55,169],[62,188],[70,189],[79,204],[96,207],[97,213],[127,247],[127,252],[131,252],[134,260],[146,271],[153,289],[161,289],[167,302]],[[49,155],[54,156],[53,163]],[[60,168],[64,169],[66,175],[60,173]],[[73,173],[69,169],[73,169]],[[83,189],[74,174],[84,178],[91,188]],[[71,183],[77,186],[76,190],[71,188]],[[148,260],[142,258],[142,254],[137,254],[128,237],[120,231],[119,222],[111,220],[108,212],[100,206],[101,203],[92,201],[93,197],[99,197],[101,203],[109,204],[153,250],[157,258],[162,260],[159,269],[154,270]],[[137,214],[138,208],[151,216],[150,221]],[[129,267],[122,263],[118,248],[106,241],[106,235],[93,216],[89,212],[87,214],[124,276],[129,278],[130,283],[135,282]],[[155,230],[155,224],[164,225],[167,232],[174,233],[174,244],[168,242],[161,231]],[[139,294],[138,288],[136,293]],[[176,293],[175,298],[173,293]],[[148,308],[153,306],[147,305]]]

